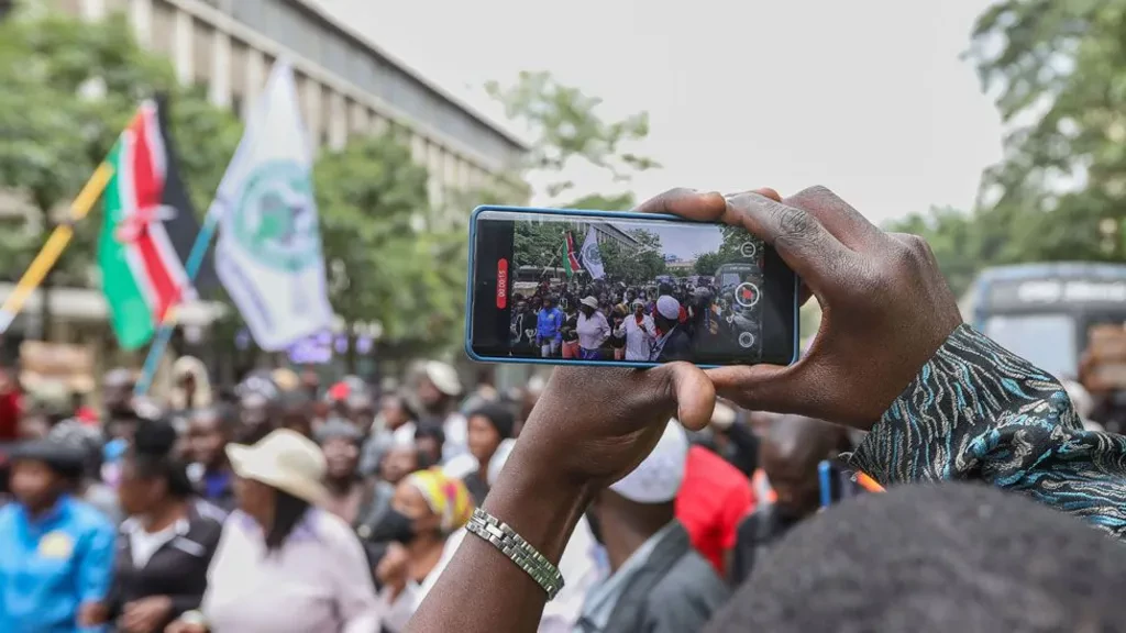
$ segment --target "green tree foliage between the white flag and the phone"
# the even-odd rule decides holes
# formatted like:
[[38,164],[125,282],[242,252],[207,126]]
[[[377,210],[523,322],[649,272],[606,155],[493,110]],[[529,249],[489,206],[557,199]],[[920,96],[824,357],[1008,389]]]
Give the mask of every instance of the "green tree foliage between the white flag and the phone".
[[357,137],[322,155],[313,177],[337,313],[381,323],[390,355],[458,338],[465,238],[417,230],[428,213],[428,175],[410,148],[393,135]]

